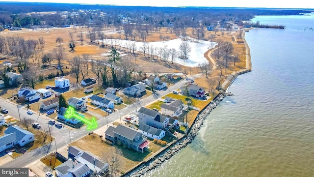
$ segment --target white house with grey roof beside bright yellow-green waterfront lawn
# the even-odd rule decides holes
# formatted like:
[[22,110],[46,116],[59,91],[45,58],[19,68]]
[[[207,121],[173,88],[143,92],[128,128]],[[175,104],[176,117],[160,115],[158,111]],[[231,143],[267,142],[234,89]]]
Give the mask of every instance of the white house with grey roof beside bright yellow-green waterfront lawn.
[[161,104],[160,108],[165,116],[179,117],[183,113],[184,103],[178,99],[170,103]]

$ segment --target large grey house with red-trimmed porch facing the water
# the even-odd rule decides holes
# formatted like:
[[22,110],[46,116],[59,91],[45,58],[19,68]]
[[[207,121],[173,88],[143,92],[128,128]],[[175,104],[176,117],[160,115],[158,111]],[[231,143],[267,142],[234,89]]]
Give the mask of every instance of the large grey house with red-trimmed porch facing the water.
[[148,149],[147,138],[142,133],[121,124],[117,127],[109,126],[105,131],[105,138],[113,143],[121,142],[142,153]]

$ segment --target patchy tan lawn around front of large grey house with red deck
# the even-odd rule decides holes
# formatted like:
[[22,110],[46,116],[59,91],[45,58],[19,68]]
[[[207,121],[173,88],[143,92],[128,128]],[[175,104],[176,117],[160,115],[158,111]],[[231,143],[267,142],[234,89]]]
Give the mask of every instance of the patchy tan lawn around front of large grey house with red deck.
[[[77,146],[83,150],[89,151],[98,157],[103,157],[103,152],[109,150],[110,148],[114,148],[114,146],[110,146],[102,141],[102,138],[99,137],[97,134],[86,135],[81,139],[73,142],[70,146]],[[97,148],[95,148],[97,147]],[[120,171],[127,171],[131,169],[136,164],[140,163],[142,160],[148,158],[153,153],[146,151],[144,153],[137,152],[132,149],[126,149],[122,146],[117,146],[122,151],[122,161],[123,164],[119,168]]]

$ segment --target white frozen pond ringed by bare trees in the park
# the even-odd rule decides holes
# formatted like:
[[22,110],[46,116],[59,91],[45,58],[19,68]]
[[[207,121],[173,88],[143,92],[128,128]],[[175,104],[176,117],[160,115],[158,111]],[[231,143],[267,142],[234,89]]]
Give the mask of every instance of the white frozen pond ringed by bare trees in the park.
[[[204,57],[204,53],[207,52],[211,47],[215,46],[216,42],[210,42],[210,41],[204,41],[199,40],[199,42],[191,42],[191,40],[187,41],[188,44],[191,47],[191,52],[188,54],[188,59],[180,59],[176,58],[173,60],[173,62],[179,63],[184,66],[198,66],[199,63],[208,63],[208,60]],[[107,43],[110,43],[110,41],[107,40]],[[113,40],[113,45],[118,45],[120,43],[120,46],[125,47],[128,46],[130,43],[135,44],[136,51],[141,51],[140,47],[146,43],[148,46],[153,46],[154,48],[163,48],[164,46],[167,46],[168,49],[174,48],[177,51],[179,51],[179,46],[182,43],[181,38],[168,40],[168,41],[156,41],[156,42],[136,42],[136,41],[130,41],[130,40]],[[214,43],[215,45],[211,45],[211,43]],[[155,55],[155,54],[154,54]]]

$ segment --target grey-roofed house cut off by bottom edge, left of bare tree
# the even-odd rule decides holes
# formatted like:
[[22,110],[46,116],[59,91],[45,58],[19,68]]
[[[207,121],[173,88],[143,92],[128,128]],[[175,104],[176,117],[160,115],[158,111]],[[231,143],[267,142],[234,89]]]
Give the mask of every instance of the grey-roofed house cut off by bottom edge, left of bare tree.
[[86,164],[67,160],[54,168],[57,177],[90,177],[90,169]]

